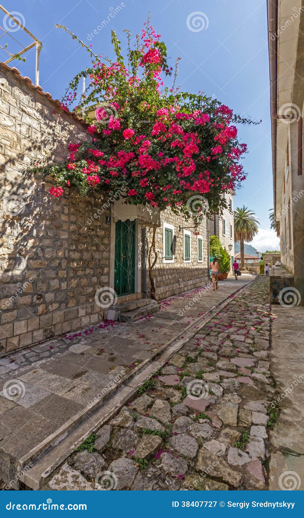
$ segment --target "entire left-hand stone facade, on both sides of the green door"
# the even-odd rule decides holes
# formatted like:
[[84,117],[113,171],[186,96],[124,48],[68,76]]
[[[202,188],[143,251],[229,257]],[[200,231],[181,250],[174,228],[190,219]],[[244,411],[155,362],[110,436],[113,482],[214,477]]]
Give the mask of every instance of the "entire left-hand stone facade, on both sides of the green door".
[[[102,199],[96,194],[81,199],[67,189],[55,199],[48,194],[51,184],[27,172],[45,158],[65,161],[69,142],[90,138],[84,121],[59,110],[59,101],[50,94],[34,87],[17,69],[0,65],[0,354],[103,320],[108,310],[96,293],[113,289],[115,283],[118,223],[112,202],[117,197]],[[157,296],[207,283],[206,221],[199,229],[200,260],[193,229],[179,230],[191,223],[167,210],[158,224]],[[177,238],[173,261],[163,257],[164,224],[174,227]],[[118,303],[143,297],[144,227],[136,219],[135,282]],[[189,260],[183,251],[185,232],[190,232]],[[149,237],[149,226],[146,233]]]

